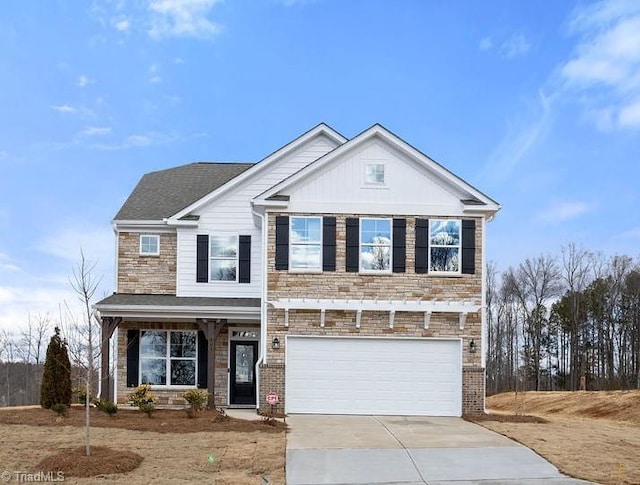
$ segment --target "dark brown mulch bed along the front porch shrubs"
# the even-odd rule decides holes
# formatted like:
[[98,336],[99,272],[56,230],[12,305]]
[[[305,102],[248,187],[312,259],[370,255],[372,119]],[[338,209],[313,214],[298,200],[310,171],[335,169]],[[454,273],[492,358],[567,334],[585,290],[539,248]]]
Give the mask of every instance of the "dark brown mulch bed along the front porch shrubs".
[[[85,409],[72,406],[67,417],[59,417],[49,409],[0,408],[0,423],[24,424],[27,426],[85,426]],[[109,416],[95,408],[91,409],[90,424],[96,428],[121,428],[156,433],[199,433],[203,431],[237,431],[251,433],[281,433],[286,424],[277,420],[247,421],[226,416],[216,409],[207,409],[197,417],[188,417],[185,410],[158,409],[151,417],[135,409],[123,409]]]

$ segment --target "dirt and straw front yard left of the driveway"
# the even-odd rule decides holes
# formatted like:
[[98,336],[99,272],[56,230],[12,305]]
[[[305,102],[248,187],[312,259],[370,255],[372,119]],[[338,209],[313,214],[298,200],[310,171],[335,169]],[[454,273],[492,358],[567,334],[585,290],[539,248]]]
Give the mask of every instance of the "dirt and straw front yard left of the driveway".
[[[67,418],[40,408],[0,409],[1,478],[17,483],[21,477],[16,472],[39,471],[52,472],[50,477],[56,478],[68,465],[82,471],[106,462],[110,468],[102,475],[79,478],[82,473],[65,473],[65,483],[284,483],[286,427],[282,423],[225,418],[213,411],[188,418],[184,411],[160,410],[148,418],[132,410],[109,417],[94,409],[91,417],[92,445],[124,452],[122,456],[107,456],[105,450],[95,449],[89,461],[79,463],[82,453],[69,459],[84,445],[82,408],[72,408]],[[56,457],[61,451],[62,456]],[[135,455],[142,458],[137,459],[137,467]],[[120,470],[126,459],[135,469],[110,473]],[[22,477],[28,480],[29,476]]]

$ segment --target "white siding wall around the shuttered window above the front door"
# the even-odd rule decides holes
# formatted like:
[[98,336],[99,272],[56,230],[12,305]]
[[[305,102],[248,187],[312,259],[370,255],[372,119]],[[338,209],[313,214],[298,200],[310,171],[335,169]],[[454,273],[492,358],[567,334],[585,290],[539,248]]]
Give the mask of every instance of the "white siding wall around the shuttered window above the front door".
[[[177,296],[259,298],[262,283],[262,231],[251,213],[251,200],[271,186],[306,167],[338,144],[319,135],[261,173],[196,212],[198,228],[179,228],[177,240]],[[196,236],[234,233],[251,236],[251,282],[196,282]]]

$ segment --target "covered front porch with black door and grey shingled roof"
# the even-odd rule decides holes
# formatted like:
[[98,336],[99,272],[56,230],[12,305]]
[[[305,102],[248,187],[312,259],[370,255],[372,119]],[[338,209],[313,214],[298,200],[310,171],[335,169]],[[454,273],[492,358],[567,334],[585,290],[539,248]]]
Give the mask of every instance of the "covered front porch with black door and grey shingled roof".
[[149,383],[160,404],[182,404],[182,392],[201,388],[211,407],[255,407],[259,299],[114,294],[96,310],[100,397],[124,404]]

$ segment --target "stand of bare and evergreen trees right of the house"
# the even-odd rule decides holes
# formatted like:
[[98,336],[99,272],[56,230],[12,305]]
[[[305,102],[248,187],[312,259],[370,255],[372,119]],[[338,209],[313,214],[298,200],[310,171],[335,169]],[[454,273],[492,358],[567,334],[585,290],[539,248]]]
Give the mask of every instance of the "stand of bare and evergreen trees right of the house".
[[640,262],[569,244],[487,271],[487,394],[640,389]]

